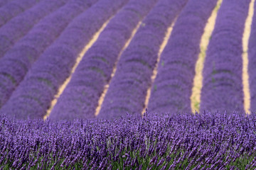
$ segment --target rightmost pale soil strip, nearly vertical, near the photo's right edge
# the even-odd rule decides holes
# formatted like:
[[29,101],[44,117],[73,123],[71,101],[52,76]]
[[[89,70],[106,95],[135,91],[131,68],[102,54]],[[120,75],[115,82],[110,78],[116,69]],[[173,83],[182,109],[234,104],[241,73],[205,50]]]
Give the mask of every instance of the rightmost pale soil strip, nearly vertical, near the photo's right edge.
[[250,87],[249,87],[249,75],[248,75],[248,42],[250,37],[251,25],[252,25],[252,16],[254,13],[254,4],[255,0],[250,2],[248,16],[245,21],[245,30],[242,36],[242,84],[244,92],[244,107],[245,113],[250,114]]

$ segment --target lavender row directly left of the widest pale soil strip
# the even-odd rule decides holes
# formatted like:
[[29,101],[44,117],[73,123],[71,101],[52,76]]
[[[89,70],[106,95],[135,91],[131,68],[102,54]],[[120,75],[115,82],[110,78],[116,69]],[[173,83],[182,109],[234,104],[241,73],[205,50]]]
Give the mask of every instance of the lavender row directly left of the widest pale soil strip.
[[201,36],[217,1],[190,0],[181,11],[161,54],[151,85],[149,111],[191,112],[191,89]]

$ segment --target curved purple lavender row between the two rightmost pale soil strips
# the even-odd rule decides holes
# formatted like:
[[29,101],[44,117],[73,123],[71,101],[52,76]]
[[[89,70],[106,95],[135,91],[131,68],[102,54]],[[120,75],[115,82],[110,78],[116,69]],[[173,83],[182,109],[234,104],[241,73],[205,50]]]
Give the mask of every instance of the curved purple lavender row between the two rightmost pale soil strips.
[[250,0],[223,1],[206,51],[200,110],[244,113],[242,35]]

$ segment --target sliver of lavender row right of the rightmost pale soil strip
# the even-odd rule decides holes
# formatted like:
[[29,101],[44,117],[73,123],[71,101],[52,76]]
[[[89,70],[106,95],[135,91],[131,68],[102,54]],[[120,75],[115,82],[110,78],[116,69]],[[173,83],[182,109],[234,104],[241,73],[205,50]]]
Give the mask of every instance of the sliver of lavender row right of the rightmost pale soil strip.
[[248,74],[250,85],[250,111],[256,112],[256,3],[248,45]]

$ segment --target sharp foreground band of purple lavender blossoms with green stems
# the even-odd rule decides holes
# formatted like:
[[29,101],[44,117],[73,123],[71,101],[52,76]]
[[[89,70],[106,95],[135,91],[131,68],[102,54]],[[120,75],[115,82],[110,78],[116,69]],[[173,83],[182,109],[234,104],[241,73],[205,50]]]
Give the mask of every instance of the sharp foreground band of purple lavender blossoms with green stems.
[[1,169],[255,169],[256,115],[145,113],[116,120],[0,116]]

